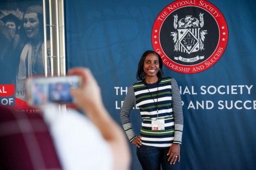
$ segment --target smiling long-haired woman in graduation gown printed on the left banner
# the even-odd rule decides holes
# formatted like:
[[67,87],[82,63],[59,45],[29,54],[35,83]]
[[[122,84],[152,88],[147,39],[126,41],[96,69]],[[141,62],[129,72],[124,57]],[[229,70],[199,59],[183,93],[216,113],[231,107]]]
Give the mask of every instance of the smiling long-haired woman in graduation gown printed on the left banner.
[[[19,58],[16,78],[16,98],[25,100],[25,79],[33,75],[50,74],[50,58],[44,54],[44,21],[42,7],[33,5],[26,9],[20,36],[14,46]],[[47,64],[47,66],[46,66]],[[47,69],[45,70],[45,67]]]

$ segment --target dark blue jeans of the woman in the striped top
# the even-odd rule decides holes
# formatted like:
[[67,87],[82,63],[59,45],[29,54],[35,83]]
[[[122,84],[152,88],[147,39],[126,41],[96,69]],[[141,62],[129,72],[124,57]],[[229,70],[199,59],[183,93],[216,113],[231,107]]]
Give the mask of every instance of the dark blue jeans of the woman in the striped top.
[[141,145],[140,148],[137,148],[137,157],[143,170],[160,170],[160,166],[163,170],[180,170],[181,163],[178,160],[175,164],[170,164],[168,161],[168,151],[169,147],[159,148]]

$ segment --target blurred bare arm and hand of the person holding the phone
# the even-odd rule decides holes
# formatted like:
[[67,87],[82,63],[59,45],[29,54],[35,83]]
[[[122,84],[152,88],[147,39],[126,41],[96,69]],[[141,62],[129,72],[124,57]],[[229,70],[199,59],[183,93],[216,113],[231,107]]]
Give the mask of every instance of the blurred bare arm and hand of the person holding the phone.
[[73,68],[69,74],[82,77],[81,88],[71,89],[71,94],[76,106],[83,110],[84,114],[88,116],[109,143],[114,155],[114,168],[129,169],[130,151],[125,136],[119,125],[105,109],[100,88],[91,71],[86,68]]

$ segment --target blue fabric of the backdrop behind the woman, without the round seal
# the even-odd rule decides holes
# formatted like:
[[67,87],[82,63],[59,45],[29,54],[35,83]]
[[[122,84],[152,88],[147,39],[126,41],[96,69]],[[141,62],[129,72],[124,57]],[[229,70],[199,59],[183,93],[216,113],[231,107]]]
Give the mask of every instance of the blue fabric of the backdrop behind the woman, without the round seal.
[[[121,104],[127,87],[137,81],[139,59],[144,51],[153,50],[154,22],[172,3],[65,1],[67,69],[84,66],[92,70],[105,107],[120,125]],[[163,67],[165,76],[177,80],[184,102],[182,169],[256,169],[256,3],[209,3],[221,11],[228,27],[227,46],[219,61],[194,74]],[[207,29],[205,44],[210,41],[211,28]],[[131,119],[139,135],[137,108]],[[135,145],[130,148],[131,169],[141,169]]]

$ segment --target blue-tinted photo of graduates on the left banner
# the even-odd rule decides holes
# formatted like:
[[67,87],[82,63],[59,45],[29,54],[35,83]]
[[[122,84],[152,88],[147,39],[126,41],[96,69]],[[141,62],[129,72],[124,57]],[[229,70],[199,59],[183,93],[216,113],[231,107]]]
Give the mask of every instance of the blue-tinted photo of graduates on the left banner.
[[42,1],[0,2],[0,84],[15,84],[16,98],[23,101],[26,78],[45,75],[45,67],[51,74],[43,12]]

